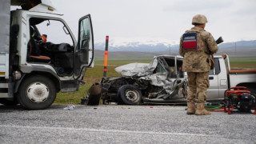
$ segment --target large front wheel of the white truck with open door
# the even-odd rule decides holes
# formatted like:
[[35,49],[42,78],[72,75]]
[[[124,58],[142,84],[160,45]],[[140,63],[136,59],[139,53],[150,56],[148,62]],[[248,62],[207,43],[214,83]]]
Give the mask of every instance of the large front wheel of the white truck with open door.
[[33,75],[22,82],[18,90],[18,102],[29,110],[49,107],[56,98],[56,88],[50,78]]

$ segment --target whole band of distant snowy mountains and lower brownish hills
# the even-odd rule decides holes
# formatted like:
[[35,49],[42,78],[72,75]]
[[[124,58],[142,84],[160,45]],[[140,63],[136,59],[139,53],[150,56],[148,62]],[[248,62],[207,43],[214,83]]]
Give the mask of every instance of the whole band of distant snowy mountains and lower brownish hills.
[[[95,43],[95,58],[104,58],[105,44]],[[256,57],[256,40],[226,42],[219,45],[218,54],[227,53],[230,56],[250,56]],[[147,59],[160,54],[178,54],[178,44],[168,44],[166,42],[130,42],[124,45],[109,45],[109,59]]]

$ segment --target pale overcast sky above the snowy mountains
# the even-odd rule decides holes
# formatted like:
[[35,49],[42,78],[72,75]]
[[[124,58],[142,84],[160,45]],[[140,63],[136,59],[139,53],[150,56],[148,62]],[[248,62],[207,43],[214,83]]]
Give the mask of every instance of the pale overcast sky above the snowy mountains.
[[51,0],[74,34],[78,19],[91,14],[95,42],[178,42],[195,14],[208,19],[206,30],[225,42],[256,39],[255,0]]

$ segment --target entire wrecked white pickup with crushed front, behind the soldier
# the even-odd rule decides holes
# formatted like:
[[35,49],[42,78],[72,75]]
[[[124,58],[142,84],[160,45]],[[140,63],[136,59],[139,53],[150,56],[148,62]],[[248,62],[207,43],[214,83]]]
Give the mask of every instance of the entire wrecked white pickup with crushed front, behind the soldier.
[[[234,86],[246,86],[255,93],[256,70],[230,70],[227,54],[214,56],[214,59],[207,102],[222,102],[225,90]],[[187,75],[177,72],[182,61],[181,56],[162,55],[154,57],[150,64],[134,63],[116,68],[122,77],[102,78],[103,102],[128,105],[186,102]]]

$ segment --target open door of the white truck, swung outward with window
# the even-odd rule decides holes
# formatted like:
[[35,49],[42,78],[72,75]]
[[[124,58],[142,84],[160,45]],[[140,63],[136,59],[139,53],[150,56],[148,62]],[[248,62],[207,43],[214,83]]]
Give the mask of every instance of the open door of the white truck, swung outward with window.
[[78,46],[74,54],[74,73],[94,64],[94,34],[90,14],[79,19]]

